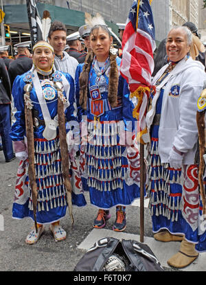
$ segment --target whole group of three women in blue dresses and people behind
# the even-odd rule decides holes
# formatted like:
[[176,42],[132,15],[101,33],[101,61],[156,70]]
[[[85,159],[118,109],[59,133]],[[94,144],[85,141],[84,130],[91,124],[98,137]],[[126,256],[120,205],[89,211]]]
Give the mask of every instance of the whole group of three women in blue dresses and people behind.
[[[65,240],[60,219],[69,207],[73,221],[72,205],[87,205],[85,191],[98,209],[93,227],[104,228],[116,208],[113,231],[126,229],[126,206],[140,196],[134,104],[119,73],[122,50],[114,52],[110,30],[102,18],[97,22],[67,37],[65,25],[54,21],[32,58],[27,43],[16,45],[15,60],[3,48],[0,54],[0,133],[5,161],[20,160],[12,217],[34,220],[27,244],[38,241],[46,224],[56,241]],[[124,27],[119,24],[119,37]],[[146,115],[152,231],[160,242],[181,242],[168,260],[175,268],[206,251],[196,122],[206,80],[203,49],[193,23],[168,32],[155,51]]]

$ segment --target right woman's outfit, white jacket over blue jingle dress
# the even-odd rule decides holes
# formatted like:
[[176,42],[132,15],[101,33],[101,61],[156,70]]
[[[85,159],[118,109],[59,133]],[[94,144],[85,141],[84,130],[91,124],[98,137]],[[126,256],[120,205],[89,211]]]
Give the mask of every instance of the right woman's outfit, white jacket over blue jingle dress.
[[[146,117],[151,138],[148,155],[149,209],[153,232],[167,229],[172,234],[183,234],[186,240],[196,244],[197,251],[205,251],[206,233],[201,226],[202,202],[198,190],[198,164],[195,161],[198,139],[195,102],[203,89],[205,74],[195,61],[184,61],[174,65],[169,72],[168,65],[165,65],[153,79],[157,89],[157,98],[151,94],[155,102],[152,104],[155,116],[148,119],[149,111]],[[192,73],[191,68],[196,74]],[[170,109],[172,104],[175,104],[173,116]],[[179,123],[179,117],[183,115],[180,115],[179,109],[185,113],[185,117],[188,113],[188,122],[192,122],[193,130],[186,130],[183,119]],[[180,139],[177,138],[179,135]],[[167,162],[172,145],[185,152],[183,167],[178,170],[171,168]]]

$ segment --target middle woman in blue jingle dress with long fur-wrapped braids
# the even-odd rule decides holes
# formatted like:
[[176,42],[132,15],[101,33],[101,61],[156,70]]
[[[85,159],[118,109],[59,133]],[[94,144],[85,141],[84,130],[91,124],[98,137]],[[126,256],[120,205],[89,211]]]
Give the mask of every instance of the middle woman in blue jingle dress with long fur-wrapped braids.
[[113,230],[124,231],[126,205],[139,198],[134,106],[126,80],[119,76],[121,60],[112,52],[108,27],[94,25],[90,43],[91,52],[76,71],[82,183],[91,204],[99,208],[93,227],[105,227],[109,209],[116,206]]

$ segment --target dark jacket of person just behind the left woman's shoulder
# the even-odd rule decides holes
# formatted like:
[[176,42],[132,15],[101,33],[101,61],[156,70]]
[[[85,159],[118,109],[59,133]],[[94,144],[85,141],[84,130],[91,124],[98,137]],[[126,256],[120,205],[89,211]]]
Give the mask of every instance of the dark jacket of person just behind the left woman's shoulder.
[[32,68],[32,65],[33,65],[32,58],[28,58],[23,54],[20,54],[18,58],[13,60],[10,63],[10,67],[8,69],[11,86],[13,85],[16,76],[19,76],[29,71]]

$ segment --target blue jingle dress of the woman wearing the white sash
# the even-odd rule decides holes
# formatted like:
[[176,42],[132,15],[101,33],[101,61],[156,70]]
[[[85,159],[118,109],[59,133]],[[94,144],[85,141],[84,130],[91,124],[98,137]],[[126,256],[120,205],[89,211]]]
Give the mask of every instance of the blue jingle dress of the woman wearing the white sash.
[[[49,114],[53,119],[57,115],[58,93],[54,88],[54,80],[62,80],[64,86],[63,95],[67,98],[67,108],[65,109],[66,122],[76,121],[76,102],[74,100],[74,82],[69,73],[56,71],[46,80],[40,80],[42,94],[46,94],[45,99]],[[24,114],[24,91],[23,87],[27,82],[32,82],[33,72],[28,71],[21,76],[17,76],[14,81],[12,95],[14,97],[14,113],[15,122],[12,125],[10,136],[13,141],[26,140],[25,133],[25,114]],[[52,97],[49,98],[49,96]],[[42,95],[43,96],[43,95]],[[57,135],[54,139],[45,139],[43,131],[45,130],[45,122],[41,104],[38,101],[34,84],[30,91],[30,99],[32,100],[32,117],[34,122],[34,164],[36,170],[36,183],[38,190],[38,202],[36,207],[36,221],[39,224],[53,223],[64,217],[67,210],[67,191],[63,184],[61,169],[61,152],[60,141]],[[66,124],[67,128],[67,124]],[[67,130],[68,131],[68,130]],[[30,150],[28,150],[30,151]],[[70,165],[72,203],[73,205],[86,205],[82,192],[81,179],[77,172],[75,161],[71,161],[68,157]],[[12,209],[13,218],[33,217],[32,193],[30,189],[30,181],[27,174],[27,160],[20,161],[17,172],[14,203]]]

